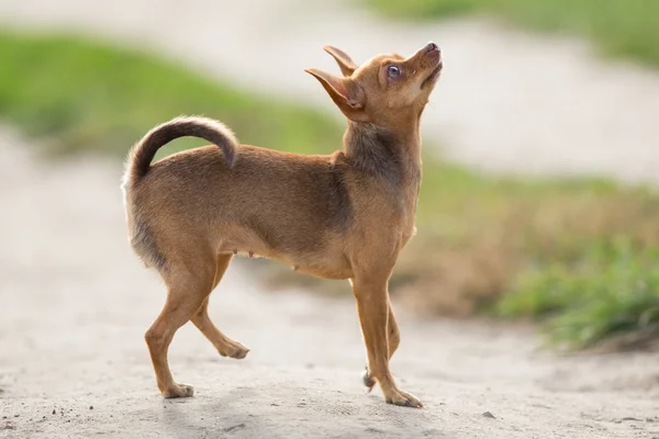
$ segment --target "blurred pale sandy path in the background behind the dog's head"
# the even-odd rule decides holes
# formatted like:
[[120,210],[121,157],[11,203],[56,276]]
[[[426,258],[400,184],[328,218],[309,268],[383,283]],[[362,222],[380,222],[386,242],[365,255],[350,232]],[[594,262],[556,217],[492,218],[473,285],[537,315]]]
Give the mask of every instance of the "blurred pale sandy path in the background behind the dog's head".
[[[588,45],[487,22],[383,23],[347,1],[3,0],[0,23],[64,29],[155,48],[213,76],[337,114],[302,70],[336,71],[321,47],[360,61],[428,40],[446,68],[424,115],[453,159],[520,173],[659,181],[659,75],[599,60]],[[347,4],[351,4],[347,7]],[[239,133],[238,133],[239,135]]]

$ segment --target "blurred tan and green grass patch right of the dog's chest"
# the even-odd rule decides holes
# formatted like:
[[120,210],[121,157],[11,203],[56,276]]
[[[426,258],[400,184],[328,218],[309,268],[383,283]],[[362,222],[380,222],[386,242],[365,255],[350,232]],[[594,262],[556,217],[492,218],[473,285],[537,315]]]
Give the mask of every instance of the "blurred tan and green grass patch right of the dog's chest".
[[[659,198],[606,181],[513,181],[431,165],[401,296],[429,314],[541,322],[569,348],[659,335]],[[635,342],[637,338],[629,339]]]

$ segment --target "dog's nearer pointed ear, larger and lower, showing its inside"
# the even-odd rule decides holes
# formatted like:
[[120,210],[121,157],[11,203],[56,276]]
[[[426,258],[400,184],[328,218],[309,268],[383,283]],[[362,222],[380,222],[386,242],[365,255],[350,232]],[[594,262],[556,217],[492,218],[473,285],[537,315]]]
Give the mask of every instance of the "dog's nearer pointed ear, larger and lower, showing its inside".
[[330,98],[346,117],[356,122],[366,122],[365,94],[357,82],[350,78],[337,78],[319,69],[310,68],[304,71],[313,75],[321,82]]

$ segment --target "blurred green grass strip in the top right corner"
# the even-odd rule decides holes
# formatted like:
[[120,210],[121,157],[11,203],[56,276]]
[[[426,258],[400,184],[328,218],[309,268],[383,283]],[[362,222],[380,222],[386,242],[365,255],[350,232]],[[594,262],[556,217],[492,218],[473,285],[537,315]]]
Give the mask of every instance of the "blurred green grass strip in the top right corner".
[[530,29],[580,34],[607,54],[659,66],[659,2],[655,0],[365,1],[393,18],[496,15]]

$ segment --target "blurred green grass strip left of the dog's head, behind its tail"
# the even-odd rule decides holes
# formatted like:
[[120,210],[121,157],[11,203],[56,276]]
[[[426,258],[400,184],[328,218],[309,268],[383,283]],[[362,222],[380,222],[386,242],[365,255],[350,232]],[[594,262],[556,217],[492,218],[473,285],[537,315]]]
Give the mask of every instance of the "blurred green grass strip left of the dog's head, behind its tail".
[[[149,127],[180,114],[226,122],[243,143],[328,151],[328,117],[217,83],[146,54],[71,36],[0,33],[0,115],[51,148],[125,154]],[[310,79],[311,80],[311,79]],[[177,140],[180,149],[200,142]]]

